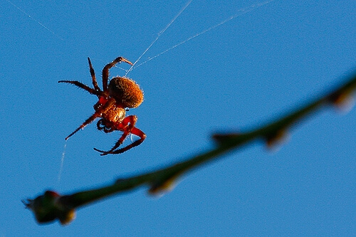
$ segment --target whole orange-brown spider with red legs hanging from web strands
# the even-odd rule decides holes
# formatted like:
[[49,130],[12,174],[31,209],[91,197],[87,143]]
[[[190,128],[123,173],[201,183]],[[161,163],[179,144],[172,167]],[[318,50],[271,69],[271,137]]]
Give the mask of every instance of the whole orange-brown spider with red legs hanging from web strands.
[[[95,78],[95,72],[93,66],[90,62],[90,58],[88,58],[90,75],[93,81],[93,87],[90,88],[88,85],[84,85],[76,80],[60,80],[58,83],[69,83],[72,85],[78,86],[78,88],[82,88],[83,90],[88,91],[88,93],[92,95],[98,96],[98,102],[94,105],[94,114],[91,115],[82,125],[80,125],[74,132],[70,133],[66,140],[78,132],[80,129],[83,129],[86,125],[93,122],[96,118],[100,117],[98,120],[97,127],[98,130],[102,130],[103,132],[114,132],[116,130],[122,131],[120,139],[117,140],[114,147],[112,147],[108,151],[103,151],[100,149],[95,149],[97,152],[101,152],[100,155],[107,154],[120,154],[122,152],[126,152],[132,147],[137,147],[140,145],[146,138],[144,132],[135,127],[135,123],[137,121],[137,116],[130,115],[125,117],[125,111],[130,108],[135,108],[141,105],[143,101],[143,92],[140,89],[140,86],[135,83],[135,81],[125,78],[125,77],[115,77],[109,80],[109,69],[112,68],[116,63],[125,62],[130,65],[132,63],[122,57],[115,58],[111,63],[105,65],[103,68],[103,90],[100,90],[98,83]],[[122,142],[124,142],[127,135],[136,135],[140,137],[137,141],[128,144],[126,147],[120,147]]]

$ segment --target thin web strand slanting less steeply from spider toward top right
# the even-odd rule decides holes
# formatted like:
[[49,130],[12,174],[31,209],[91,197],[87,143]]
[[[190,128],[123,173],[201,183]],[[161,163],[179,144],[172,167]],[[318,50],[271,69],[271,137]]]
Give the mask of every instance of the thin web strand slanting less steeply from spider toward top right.
[[216,24],[215,26],[211,26],[210,28],[207,28],[206,30],[201,31],[200,33],[197,33],[196,35],[187,38],[185,41],[182,41],[182,42],[180,42],[180,43],[177,43],[175,46],[172,46],[171,48],[166,49],[165,51],[163,51],[163,52],[157,54],[156,56],[153,56],[152,58],[148,58],[147,60],[145,60],[145,62],[140,63],[139,65],[135,66],[135,68],[138,68],[138,67],[140,67],[140,65],[143,65],[143,64],[149,62],[150,60],[155,59],[155,58],[157,58],[158,56],[161,56],[163,53],[167,53],[168,51],[171,51],[172,49],[177,48],[178,46],[181,46],[183,43],[187,43],[188,41],[192,40],[193,38],[195,38],[195,37],[197,37],[197,36],[202,35],[203,33],[206,33],[206,32],[208,32],[208,31],[211,31],[211,30],[213,30],[214,28],[219,27],[219,26],[223,25],[224,23],[226,23],[226,22],[228,22],[228,21],[231,21],[232,19],[235,19],[235,18],[238,17],[238,16],[244,15],[244,14],[246,14],[246,13],[248,13],[248,12],[250,12],[250,11],[253,11],[253,10],[255,10],[255,9],[261,7],[261,6],[264,6],[264,5],[266,5],[266,4],[269,4],[269,3],[271,3],[272,1],[275,1],[275,0],[268,0],[268,1],[264,1],[264,2],[262,2],[262,3],[260,3],[260,4],[253,4],[253,5],[251,5],[251,6],[246,7],[245,9],[239,9],[239,11],[238,11],[239,13],[235,14],[234,16],[230,16],[228,19],[226,19],[226,20],[224,20],[224,21],[221,21],[220,23]]

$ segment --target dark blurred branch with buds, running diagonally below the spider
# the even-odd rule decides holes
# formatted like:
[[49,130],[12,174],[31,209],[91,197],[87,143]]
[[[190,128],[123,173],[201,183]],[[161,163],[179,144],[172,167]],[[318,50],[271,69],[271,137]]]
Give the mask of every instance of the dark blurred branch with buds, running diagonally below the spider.
[[356,73],[354,73],[347,82],[333,90],[331,93],[327,93],[326,95],[293,110],[290,114],[265,126],[259,127],[256,130],[243,133],[213,135],[217,147],[209,152],[198,154],[183,162],[170,165],[163,169],[158,169],[154,172],[127,177],[125,179],[118,179],[114,184],[103,186],[98,189],[80,191],[63,196],[55,191],[46,191],[43,195],[38,196],[35,199],[27,199],[26,201],[23,201],[23,204],[26,205],[26,208],[33,211],[38,223],[48,223],[58,219],[62,224],[68,224],[75,218],[75,209],[91,204],[94,201],[104,199],[113,194],[121,194],[144,184],[149,186],[149,192],[151,194],[159,194],[171,189],[175,179],[182,174],[199,167],[201,164],[206,164],[218,159],[222,154],[231,152],[254,139],[263,139],[268,146],[281,141],[286,130],[288,130],[291,125],[294,125],[295,122],[306,117],[306,115],[310,115],[311,112],[315,112],[325,105],[342,107],[347,102],[350,102],[352,99],[352,92],[355,88]]

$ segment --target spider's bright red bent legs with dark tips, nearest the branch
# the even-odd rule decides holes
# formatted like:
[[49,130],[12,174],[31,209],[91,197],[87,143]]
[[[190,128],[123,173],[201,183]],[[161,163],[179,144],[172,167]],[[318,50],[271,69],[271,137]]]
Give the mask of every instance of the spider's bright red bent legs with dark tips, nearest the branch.
[[[140,145],[145,140],[146,135],[144,132],[142,132],[137,127],[135,127],[136,121],[137,121],[137,117],[135,115],[130,115],[130,116],[125,117],[125,119],[122,120],[122,122],[117,125],[117,130],[123,131],[124,133],[121,135],[120,139],[116,142],[115,146],[112,147],[112,149],[110,149],[107,152],[94,148],[95,151],[102,152],[102,154],[100,154],[102,156],[107,155],[107,154],[120,154],[122,152],[126,152],[127,150],[131,149],[132,147],[137,147],[138,145]],[[140,139],[138,139],[135,142],[132,142],[131,144],[127,145],[126,147],[117,149],[117,147],[120,147],[120,145],[124,142],[127,135],[129,135],[130,133],[140,137]]]

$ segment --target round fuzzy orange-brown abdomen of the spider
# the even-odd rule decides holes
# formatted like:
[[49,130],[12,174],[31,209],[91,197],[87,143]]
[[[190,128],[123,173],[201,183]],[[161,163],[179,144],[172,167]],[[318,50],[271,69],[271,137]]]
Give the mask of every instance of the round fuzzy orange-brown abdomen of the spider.
[[134,108],[141,105],[143,92],[134,80],[129,78],[112,78],[109,83],[109,93],[123,107]]

